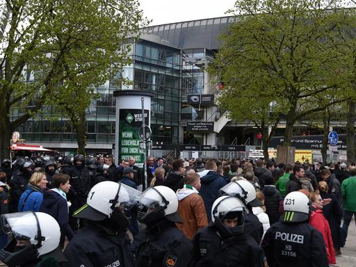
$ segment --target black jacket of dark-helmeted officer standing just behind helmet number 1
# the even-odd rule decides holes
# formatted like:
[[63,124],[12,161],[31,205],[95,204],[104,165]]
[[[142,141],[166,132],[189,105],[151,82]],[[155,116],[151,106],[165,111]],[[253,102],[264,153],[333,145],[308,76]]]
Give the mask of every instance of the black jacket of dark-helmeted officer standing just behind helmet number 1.
[[90,191],[90,178],[88,168],[74,166],[70,170],[70,185],[74,196],[86,197]]

